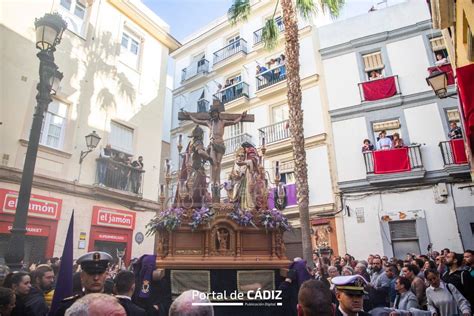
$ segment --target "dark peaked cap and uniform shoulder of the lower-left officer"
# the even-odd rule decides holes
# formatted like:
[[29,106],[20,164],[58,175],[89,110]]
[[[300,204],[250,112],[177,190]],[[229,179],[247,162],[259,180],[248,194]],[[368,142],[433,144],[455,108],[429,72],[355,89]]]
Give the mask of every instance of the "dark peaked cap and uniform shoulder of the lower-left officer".
[[[77,263],[81,265],[82,271],[89,275],[94,275],[105,273],[112,260],[112,256],[106,252],[93,251],[79,257]],[[86,291],[84,292],[84,290]],[[58,309],[54,315],[63,316],[66,313],[66,310],[71,307],[75,301],[87,294],[86,292],[87,289],[83,288],[82,293],[63,299],[61,303],[59,303]]]

